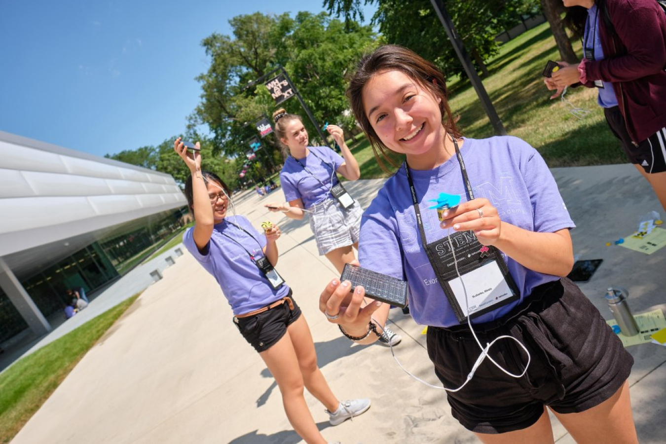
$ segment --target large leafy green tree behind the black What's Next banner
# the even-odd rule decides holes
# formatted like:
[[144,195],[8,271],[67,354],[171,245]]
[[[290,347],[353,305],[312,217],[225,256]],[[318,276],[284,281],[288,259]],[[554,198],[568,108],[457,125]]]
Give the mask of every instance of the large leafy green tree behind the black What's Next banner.
[[[222,152],[244,156],[249,150],[246,140],[256,135],[254,120],[276,109],[263,83],[247,86],[278,65],[286,69],[321,124],[353,124],[346,116],[344,74],[364,50],[376,45],[371,27],[354,23],[345,28],[325,13],[298,13],[294,18],[254,13],[229,23],[233,37],[214,33],[202,41],[210,67],[197,78],[201,102],[190,116],[192,126],[208,124]],[[281,106],[300,114],[311,138],[316,137],[296,99]],[[268,136],[262,144],[272,158],[280,159],[275,138]]]

